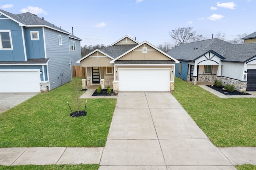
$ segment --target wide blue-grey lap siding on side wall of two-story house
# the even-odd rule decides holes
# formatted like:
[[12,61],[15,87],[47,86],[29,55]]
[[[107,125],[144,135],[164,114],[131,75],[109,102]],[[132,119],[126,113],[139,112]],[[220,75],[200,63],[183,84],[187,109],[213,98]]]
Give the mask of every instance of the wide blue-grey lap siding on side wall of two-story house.
[[[70,71],[70,48],[68,34],[44,28],[46,56],[48,63],[50,90],[72,80]],[[62,36],[62,45],[59,45],[58,36]],[[61,75],[63,72],[63,75]]]

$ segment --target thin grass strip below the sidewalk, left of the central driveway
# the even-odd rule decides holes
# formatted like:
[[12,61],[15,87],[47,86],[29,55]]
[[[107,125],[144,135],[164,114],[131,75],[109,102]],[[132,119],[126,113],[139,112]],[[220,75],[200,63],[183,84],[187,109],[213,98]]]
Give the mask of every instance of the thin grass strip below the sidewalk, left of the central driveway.
[[17,165],[2,166],[1,170],[98,170],[98,164],[80,164],[80,165]]

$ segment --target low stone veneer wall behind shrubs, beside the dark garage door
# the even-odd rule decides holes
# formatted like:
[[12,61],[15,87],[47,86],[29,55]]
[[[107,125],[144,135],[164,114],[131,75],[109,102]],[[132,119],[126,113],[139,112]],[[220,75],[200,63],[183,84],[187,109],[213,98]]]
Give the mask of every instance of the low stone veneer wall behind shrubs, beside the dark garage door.
[[242,92],[242,91],[246,91],[247,88],[247,81],[239,81],[239,80],[234,80],[234,79],[230,79],[227,77],[216,77],[217,80],[220,80],[222,82],[222,85],[234,85],[235,90]]

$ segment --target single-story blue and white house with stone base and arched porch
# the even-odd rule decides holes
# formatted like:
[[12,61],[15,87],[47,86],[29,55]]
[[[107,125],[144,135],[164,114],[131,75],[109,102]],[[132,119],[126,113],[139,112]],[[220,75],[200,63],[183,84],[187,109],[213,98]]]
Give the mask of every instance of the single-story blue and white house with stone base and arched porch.
[[256,43],[234,45],[214,38],[181,44],[167,53],[180,61],[175,75],[185,81],[218,79],[237,91],[256,90]]

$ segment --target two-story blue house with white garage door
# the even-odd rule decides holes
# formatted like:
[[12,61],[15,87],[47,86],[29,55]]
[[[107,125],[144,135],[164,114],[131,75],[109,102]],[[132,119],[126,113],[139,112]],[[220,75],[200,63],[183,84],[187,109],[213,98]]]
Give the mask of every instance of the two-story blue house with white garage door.
[[47,92],[71,81],[80,41],[30,12],[0,10],[0,92]]

